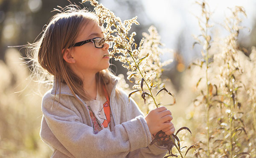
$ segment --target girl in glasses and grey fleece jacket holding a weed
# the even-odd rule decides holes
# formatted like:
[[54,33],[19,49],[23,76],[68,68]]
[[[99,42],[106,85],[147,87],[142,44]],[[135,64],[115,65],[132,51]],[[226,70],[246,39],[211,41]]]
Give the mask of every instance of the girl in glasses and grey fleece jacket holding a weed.
[[34,43],[34,61],[54,77],[42,99],[41,139],[52,158],[163,158],[167,148],[149,144],[160,130],[174,133],[172,114],[159,107],[144,117],[133,99],[128,104],[108,71],[103,37],[93,13],[70,5]]

